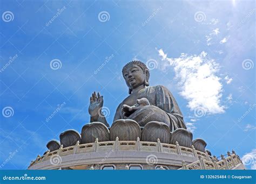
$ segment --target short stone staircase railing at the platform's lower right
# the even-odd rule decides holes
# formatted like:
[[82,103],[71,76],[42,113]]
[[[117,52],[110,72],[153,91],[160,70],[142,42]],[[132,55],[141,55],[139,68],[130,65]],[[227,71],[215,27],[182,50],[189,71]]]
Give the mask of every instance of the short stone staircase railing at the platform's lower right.
[[221,160],[218,160],[217,158],[212,158],[211,161],[202,159],[202,157],[199,157],[198,161],[195,161],[191,164],[186,165],[183,161],[182,168],[185,170],[195,170],[195,169],[211,169],[211,170],[228,170],[228,169],[234,169],[239,164],[242,164],[241,159],[237,154],[235,154],[234,151],[232,151],[232,154],[230,152],[227,152],[228,157],[224,158],[224,155],[221,154]]

